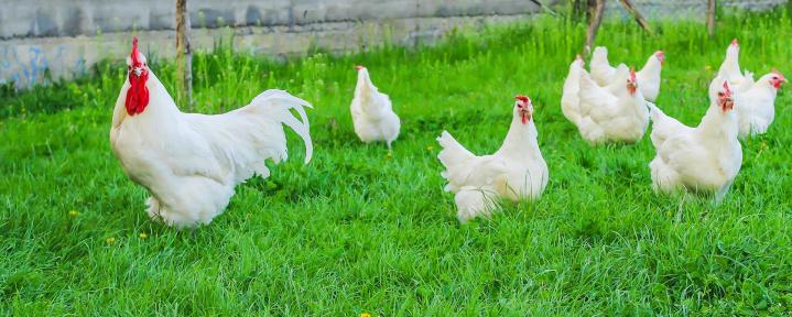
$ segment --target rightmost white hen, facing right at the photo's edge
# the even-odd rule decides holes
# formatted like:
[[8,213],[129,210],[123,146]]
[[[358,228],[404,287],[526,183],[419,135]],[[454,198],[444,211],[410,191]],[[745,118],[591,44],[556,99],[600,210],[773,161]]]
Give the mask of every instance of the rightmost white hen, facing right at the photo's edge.
[[740,138],[767,132],[775,118],[775,95],[783,83],[786,83],[784,75],[773,69],[742,91],[735,94]]

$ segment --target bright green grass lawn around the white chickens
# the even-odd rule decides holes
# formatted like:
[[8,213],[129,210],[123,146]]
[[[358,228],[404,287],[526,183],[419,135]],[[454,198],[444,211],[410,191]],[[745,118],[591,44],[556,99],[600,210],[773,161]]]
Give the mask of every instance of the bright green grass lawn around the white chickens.
[[[611,61],[639,67],[665,50],[658,105],[685,123],[704,114],[706,83],[733,37],[745,68],[792,73],[785,12],[724,18],[713,40],[694,22],[654,26],[659,36],[647,37],[631,21],[607,23],[598,44]],[[105,63],[78,81],[3,90],[0,314],[792,314],[789,87],[768,134],[744,143],[742,170],[722,205],[658,196],[648,138],[590,147],[561,114],[583,34],[579,24],[540,18],[463,30],[420,50],[386,45],[286,63],[225,46],[198,53],[202,111],[286,89],[315,105],[316,152],[303,165],[291,135],[292,157],[270,178],[239,186],[226,212],[195,232],[151,222],[144,189],[110,152],[124,67]],[[175,96],[173,64],[151,64]],[[402,118],[392,157],[352,132],[355,64],[368,66]],[[434,139],[447,129],[476,153],[495,151],[517,94],[536,109],[545,194],[459,226]]]

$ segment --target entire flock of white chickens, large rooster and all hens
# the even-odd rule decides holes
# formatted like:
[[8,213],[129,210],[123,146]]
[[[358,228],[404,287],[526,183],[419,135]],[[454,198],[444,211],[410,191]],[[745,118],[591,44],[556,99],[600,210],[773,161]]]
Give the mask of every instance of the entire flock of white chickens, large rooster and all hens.
[[[671,193],[693,189],[715,193],[719,201],[739,172],[742,151],[738,138],[764,133],[774,117],[778,89],[786,79],[772,73],[753,80],[739,68],[735,40],[717,77],[709,85],[709,109],[695,127],[663,113],[654,101],[660,92],[663,52],[634,72],[610,66],[608,52],[597,47],[590,73],[581,56],[569,65],[561,108],[590,144],[638,142],[652,121],[657,156],[649,164],[653,188]],[[268,177],[264,161],[287,157],[283,125],[305,142],[305,163],[313,145],[304,107],[311,105],[282,90],[267,90],[246,107],[206,116],[183,113],[149,69],[132,42],[127,58],[128,80],[116,101],[110,143],[124,173],[145,187],[148,214],[169,226],[196,227],[225,210],[236,185],[254,175]],[[372,84],[368,69],[357,66],[358,80],[350,112],[362,142],[399,136],[401,121],[390,98]],[[295,111],[297,119],[292,111]],[[547,185],[547,164],[536,142],[533,105],[517,96],[509,131],[491,155],[466,150],[447,131],[437,142],[441,174],[455,194],[457,216],[465,222],[488,216],[501,199],[536,199]]]

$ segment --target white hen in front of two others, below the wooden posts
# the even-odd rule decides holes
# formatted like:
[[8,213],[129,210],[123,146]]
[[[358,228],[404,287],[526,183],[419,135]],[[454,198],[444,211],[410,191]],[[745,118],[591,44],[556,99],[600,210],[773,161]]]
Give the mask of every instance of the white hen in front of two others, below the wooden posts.
[[[649,110],[638,89],[636,73],[619,65],[614,85],[599,87],[581,69],[577,116],[581,136],[590,144],[604,142],[638,142],[649,124]],[[620,84],[618,84],[620,83]],[[564,92],[566,94],[566,91]]]

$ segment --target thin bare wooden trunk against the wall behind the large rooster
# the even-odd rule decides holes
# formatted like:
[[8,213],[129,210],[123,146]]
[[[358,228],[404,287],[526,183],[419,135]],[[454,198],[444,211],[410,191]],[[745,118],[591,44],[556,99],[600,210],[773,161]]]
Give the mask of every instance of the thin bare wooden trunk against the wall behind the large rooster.
[[187,109],[194,111],[193,103],[193,48],[189,46],[189,11],[187,0],[176,0],[176,69],[181,99],[187,102]]

